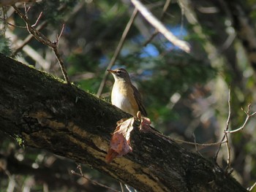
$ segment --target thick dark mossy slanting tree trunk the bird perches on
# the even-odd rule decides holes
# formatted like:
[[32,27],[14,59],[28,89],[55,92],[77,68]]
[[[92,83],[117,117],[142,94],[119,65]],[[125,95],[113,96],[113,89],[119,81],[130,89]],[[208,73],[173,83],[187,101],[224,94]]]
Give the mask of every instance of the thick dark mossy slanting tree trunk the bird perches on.
[[0,54],[1,131],[29,147],[89,164],[139,191],[246,191],[206,158],[135,128],[132,153],[105,163],[116,122],[128,114]]

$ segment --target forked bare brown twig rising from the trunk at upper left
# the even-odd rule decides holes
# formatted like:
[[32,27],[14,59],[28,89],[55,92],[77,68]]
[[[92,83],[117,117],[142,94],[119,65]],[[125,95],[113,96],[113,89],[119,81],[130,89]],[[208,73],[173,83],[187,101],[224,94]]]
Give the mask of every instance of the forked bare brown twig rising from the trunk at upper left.
[[[24,6],[25,7],[25,14],[23,14],[23,12],[20,12],[20,9],[18,9],[18,7],[16,7],[15,5],[12,5],[12,7],[18,13],[20,18],[22,18],[25,21],[26,27],[27,27],[27,30],[29,31],[29,33],[32,34],[34,36],[34,38],[37,39],[37,41],[42,42],[42,44],[47,45],[47,46],[49,46],[49,47],[51,47],[53,49],[53,51],[54,51],[54,53],[56,55],[56,58],[59,61],[59,66],[61,67],[61,72],[62,72],[62,74],[64,76],[64,80],[67,82],[67,84],[70,85],[69,77],[67,75],[67,70],[65,69],[64,62],[62,61],[61,56],[59,54],[59,50],[58,50],[58,42],[59,42],[59,37],[60,36],[57,38],[56,42],[51,42],[42,33],[37,31],[37,29],[35,29],[33,26],[31,26],[29,18],[27,16],[27,12],[29,11],[29,8],[26,9],[26,4]],[[39,18],[41,17],[40,15],[39,15]],[[39,18],[37,18],[37,20],[39,20]],[[63,31],[63,28],[62,28],[61,31]]]

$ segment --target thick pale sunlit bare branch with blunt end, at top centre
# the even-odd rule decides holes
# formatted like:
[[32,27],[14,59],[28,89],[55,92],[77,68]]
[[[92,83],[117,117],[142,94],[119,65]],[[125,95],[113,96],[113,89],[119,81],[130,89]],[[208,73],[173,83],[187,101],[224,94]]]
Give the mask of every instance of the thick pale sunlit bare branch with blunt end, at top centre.
[[165,36],[166,39],[168,39],[170,42],[173,43],[173,45],[176,45],[177,47],[181,48],[181,50],[184,50],[185,52],[190,52],[190,46],[187,42],[184,42],[181,39],[178,39],[173,33],[171,33],[159,20],[157,20],[154,15],[148,11],[148,9],[140,3],[138,0],[131,0],[132,4],[138,9],[138,11],[141,13],[141,15],[148,20],[149,23],[151,23],[154,28],[157,28],[157,30]]

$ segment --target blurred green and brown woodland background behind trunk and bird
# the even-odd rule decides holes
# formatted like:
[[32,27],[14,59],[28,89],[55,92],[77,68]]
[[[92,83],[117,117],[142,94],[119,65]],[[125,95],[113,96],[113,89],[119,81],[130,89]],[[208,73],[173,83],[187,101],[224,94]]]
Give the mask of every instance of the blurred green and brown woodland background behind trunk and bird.
[[[223,137],[231,96],[230,129],[246,118],[241,107],[255,107],[256,34],[253,0],[142,1],[179,39],[188,41],[191,53],[173,46],[161,34],[148,42],[155,29],[138,14],[113,68],[124,67],[143,96],[148,117],[163,134],[189,142],[218,142]],[[37,69],[61,76],[53,51],[37,42],[15,10],[1,2],[0,52]],[[23,9],[23,4],[16,4]],[[35,1],[27,4],[31,23],[56,39],[65,23],[59,51],[70,80],[84,91],[97,93],[105,70],[116,50],[134,7],[129,1]],[[113,78],[101,96],[110,101]],[[256,181],[255,118],[243,131],[230,134],[233,176],[249,187]],[[103,191],[88,180],[70,174],[75,162],[45,150],[24,148],[0,134],[0,191]],[[195,150],[193,145],[184,145]],[[213,158],[217,146],[198,147]],[[164,157],[163,157],[164,158]],[[225,167],[227,151],[217,162]],[[89,166],[83,172],[113,188],[119,183]],[[50,174],[50,175],[49,175]],[[54,182],[53,182],[54,181]],[[12,188],[13,186],[13,188]]]

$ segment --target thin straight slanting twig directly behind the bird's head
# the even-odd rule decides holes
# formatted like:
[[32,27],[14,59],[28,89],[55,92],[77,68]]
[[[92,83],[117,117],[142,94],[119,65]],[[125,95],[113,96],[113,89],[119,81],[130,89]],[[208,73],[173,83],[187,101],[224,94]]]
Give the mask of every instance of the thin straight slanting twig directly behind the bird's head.
[[[118,57],[118,55],[119,55],[119,53],[120,53],[120,51],[121,51],[121,47],[123,47],[123,45],[124,45],[124,40],[125,40],[126,37],[127,37],[128,31],[129,31],[129,29],[131,28],[132,23],[134,22],[137,13],[138,13],[138,9],[135,8],[134,11],[132,12],[131,18],[129,18],[129,21],[128,21],[128,23],[127,23],[127,26],[124,28],[124,32],[123,32],[123,34],[122,34],[122,36],[121,36],[121,39],[120,39],[120,41],[119,41],[119,43],[118,43],[118,46],[116,47],[116,51],[115,51],[113,57],[111,58],[110,63],[108,64],[107,69],[111,69],[111,67],[113,66],[113,64],[115,64],[116,58]],[[102,91],[103,91],[103,88],[104,88],[104,86],[105,86],[105,82],[106,82],[106,80],[107,80],[108,74],[109,74],[109,72],[106,70],[106,71],[105,71],[105,74],[104,74],[104,77],[103,77],[103,79],[102,79],[102,82],[101,82],[100,85],[99,85],[99,90],[98,90],[98,92],[97,92],[97,96],[98,96],[98,97],[100,97],[101,94],[102,94]]]

